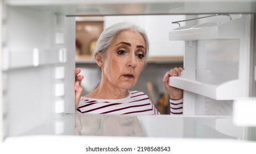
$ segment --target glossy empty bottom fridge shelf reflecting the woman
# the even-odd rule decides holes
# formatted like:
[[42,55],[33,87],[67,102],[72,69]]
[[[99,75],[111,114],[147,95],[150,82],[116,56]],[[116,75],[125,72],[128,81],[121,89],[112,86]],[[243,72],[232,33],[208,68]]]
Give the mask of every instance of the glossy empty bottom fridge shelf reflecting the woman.
[[[29,123],[34,124],[35,120],[30,119]],[[34,125],[26,125],[26,127],[27,131],[18,127],[12,128],[5,142],[39,135],[50,135],[53,138],[58,135],[76,136],[76,138],[125,136],[127,139],[140,137],[247,140],[244,138],[243,127],[234,125],[231,116],[63,114],[59,118],[46,119],[36,127]]]

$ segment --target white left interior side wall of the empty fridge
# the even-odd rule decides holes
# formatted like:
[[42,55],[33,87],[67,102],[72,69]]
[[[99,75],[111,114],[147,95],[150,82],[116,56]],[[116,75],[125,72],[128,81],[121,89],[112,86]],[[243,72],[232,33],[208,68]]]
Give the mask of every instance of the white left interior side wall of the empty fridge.
[[75,112],[75,18],[6,6],[3,27],[3,135],[55,128]]

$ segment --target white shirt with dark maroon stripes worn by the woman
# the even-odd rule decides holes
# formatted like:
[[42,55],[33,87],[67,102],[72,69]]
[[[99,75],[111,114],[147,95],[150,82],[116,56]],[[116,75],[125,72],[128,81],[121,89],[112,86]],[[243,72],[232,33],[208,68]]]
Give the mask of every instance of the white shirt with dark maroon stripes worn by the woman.
[[[171,114],[182,114],[181,100],[170,100]],[[149,97],[141,91],[116,100],[81,97],[76,113],[82,114],[160,114]]]

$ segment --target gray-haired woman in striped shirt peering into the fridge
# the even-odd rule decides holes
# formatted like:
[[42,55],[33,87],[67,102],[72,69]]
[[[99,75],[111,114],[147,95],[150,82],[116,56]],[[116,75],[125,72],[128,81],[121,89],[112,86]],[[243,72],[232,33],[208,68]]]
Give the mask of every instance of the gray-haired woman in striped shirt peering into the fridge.
[[[82,75],[76,69],[76,112],[87,114],[159,114],[142,91],[129,91],[138,81],[147,62],[149,42],[143,29],[129,23],[108,27],[98,38],[93,58],[101,70],[95,90],[81,97]],[[182,68],[166,72],[165,89],[170,94],[170,111],[182,114],[182,90],[168,85],[169,76],[179,76]]]

